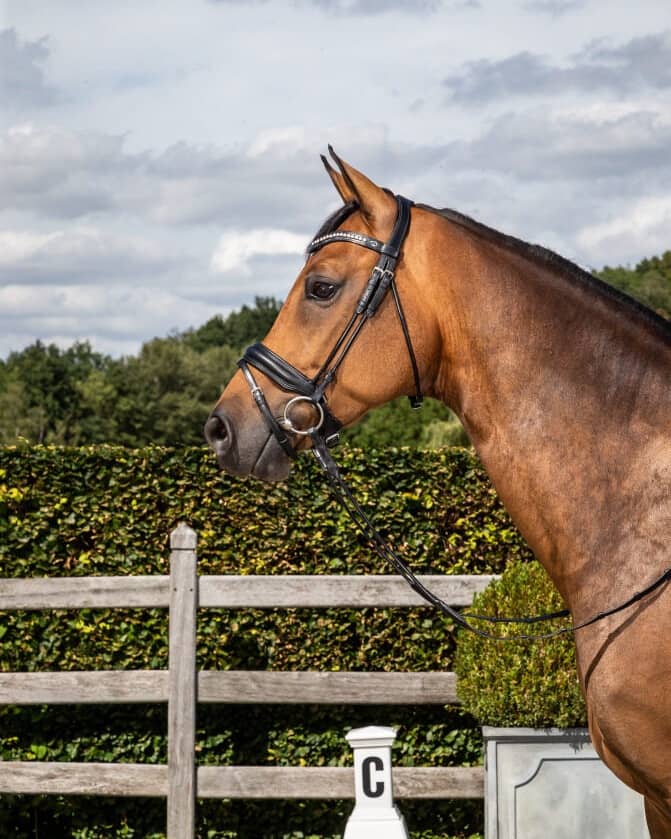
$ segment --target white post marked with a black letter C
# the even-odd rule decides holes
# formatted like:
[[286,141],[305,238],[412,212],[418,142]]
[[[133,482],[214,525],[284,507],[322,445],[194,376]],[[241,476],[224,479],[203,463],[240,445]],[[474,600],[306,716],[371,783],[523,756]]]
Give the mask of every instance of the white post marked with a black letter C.
[[354,750],[356,802],[343,839],[408,839],[405,820],[394,804],[391,782],[393,728],[369,725],[347,735]]

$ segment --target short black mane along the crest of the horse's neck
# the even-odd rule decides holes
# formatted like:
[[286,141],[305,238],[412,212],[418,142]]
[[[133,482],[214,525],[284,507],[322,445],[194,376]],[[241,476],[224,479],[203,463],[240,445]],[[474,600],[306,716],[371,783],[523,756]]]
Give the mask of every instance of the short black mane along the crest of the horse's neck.
[[658,315],[653,309],[643,303],[639,303],[633,297],[630,297],[620,289],[595,277],[589,271],[580,268],[574,262],[565,259],[563,256],[554,251],[544,248],[541,245],[534,245],[525,242],[522,239],[517,239],[515,236],[509,236],[506,233],[501,233],[493,227],[488,227],[482,222],[476,221],[470,216],[463,213],[458,213],[456,210],[451,210],[449,207],[443,209],[436,209],[427,204],[417,204],[423,210],[431,213],[436,213],[447,221],[464,228],[470,233],[475,234],[481,239],[485,239],[494,245],[498,245],[508,251],[519,254],[523,258],[541,265],[544,268],[549,268],[551,271],[559,273],[566,277],[574,285],[580,285],[583,288],[598,294],[601,297],[606,297],[613,301],[618,307],[628,309],[630,313],[638,315],[643,321],[658,331],[661,331],[662,336],[671,341],[671,321]]

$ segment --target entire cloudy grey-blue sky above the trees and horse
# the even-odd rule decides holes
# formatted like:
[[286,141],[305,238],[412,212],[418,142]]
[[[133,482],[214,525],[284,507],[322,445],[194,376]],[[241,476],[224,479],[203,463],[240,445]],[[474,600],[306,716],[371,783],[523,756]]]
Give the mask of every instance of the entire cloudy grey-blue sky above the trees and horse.
[[671,248],[669,0],[0,0],[0,357],[283,299],[383,186],[587,268]]

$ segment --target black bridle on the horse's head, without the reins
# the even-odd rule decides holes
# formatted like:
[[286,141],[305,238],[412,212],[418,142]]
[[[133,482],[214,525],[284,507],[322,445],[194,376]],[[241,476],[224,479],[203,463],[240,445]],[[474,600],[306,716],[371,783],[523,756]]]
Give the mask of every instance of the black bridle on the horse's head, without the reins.
[[[415,380],[415,394],[410,397],[410,401],[414,408],[419,408],[422,404],[419,368],[417,367],[415,351],[412,346],[408,324],[395,282],[396,265],[410,227],[410,208],[412,207],[412,201],[400,195],[395,196],[395,199],[396,222],[388,242],[381,242],[379,239],[366,236],[364,233],[336,230],[333,233],[318,236],[307,247],[307,253],[310,255],[332,242],[347,242],[375,251],[380,255],[366,284],[366,288],[359,298],[354,313],[340,333],[340,337],[333,345],[333,349],[328,354],[326,361],[319,368],[317,374],[312,378],[308,378],[304,373],[297,370],[292,364],[260,342],[248,347],[240,361],[238,361],[238,367],[243,372],[254,401],[263,415],[266,425],[282,447],[284,453],[290,458],[297,456],[296,448],[291,442],[292,437],[311,437],[315,450],[321,452],[324,452],[326,447],[334,446],[338,442],[338,433],[342,427],[342,423],[329,409],[326,389],[335,380],[340,365],[345,360],[347,353],[352,348],[364,325],[378,311],[382,301],[390,290],[403,331],[406,347],[408,348],[408,355]],[[352,208],[352,211],[354,209],[355,207]],[[281,417],[274,416],[263,390],[254,378],[254,374],[250,369],[251,367],[267,376],[281,390],[296,394],[284,406]],[[291,409],[301,403],[309,405],[315,414],[314,424],[305,429],[298,428],[290,416]]]

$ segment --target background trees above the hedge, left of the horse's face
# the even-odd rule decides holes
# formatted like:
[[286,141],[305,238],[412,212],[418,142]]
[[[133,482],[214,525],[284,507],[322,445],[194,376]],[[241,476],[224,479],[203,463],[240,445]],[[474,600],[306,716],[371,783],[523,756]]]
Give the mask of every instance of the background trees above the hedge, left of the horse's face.
[[36,341],[11,353],[0,362],[0,443],[200,443],[240,349],[266,334],[279,308],[274,298],[259,297],[123,358],[85,341],[67,349]]

